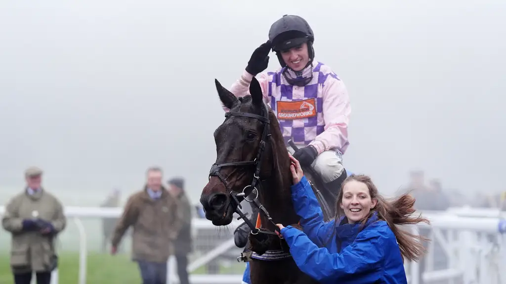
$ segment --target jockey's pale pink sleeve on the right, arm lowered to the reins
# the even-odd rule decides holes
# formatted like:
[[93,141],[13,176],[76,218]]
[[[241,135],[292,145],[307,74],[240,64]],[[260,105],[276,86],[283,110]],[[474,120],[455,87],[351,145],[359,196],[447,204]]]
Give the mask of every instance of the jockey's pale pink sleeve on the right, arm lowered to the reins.
[[343,81],[327,76],[323,84],[323,120],[325,131],[310,143],[318,154],[339,149],[342,154],[348,148],[348,123],[350,122],[350,97]]

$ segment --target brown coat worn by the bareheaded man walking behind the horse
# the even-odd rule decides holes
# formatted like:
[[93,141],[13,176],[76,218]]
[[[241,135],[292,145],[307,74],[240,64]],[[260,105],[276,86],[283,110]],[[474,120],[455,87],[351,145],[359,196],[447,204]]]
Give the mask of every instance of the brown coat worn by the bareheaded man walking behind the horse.
[[126,229],[134,227],[132,259],[166,262],[173,254],[172,242],[182,225],[176,200],[162,187],[160,199],[153,200],[145,187],[126,202],[114,229],[112,246],[117,247]]

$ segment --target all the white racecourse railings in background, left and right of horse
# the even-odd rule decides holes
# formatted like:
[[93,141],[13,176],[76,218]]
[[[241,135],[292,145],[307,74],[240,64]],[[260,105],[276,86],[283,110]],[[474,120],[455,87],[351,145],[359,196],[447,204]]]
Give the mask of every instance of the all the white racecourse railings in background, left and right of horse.
[[[474,213],[470,213],[474,212]],[[4,212],[4,207],[0,207],[0,215]],[[497,214],[496,214],[497,213]],[[65,215],[68,219],[74,221],[79,232],[79,275],[78,283],[86,283],[86,260],[87,260],[87,241],[86,231],[82,226],[81,219],[84,218],[117,218],[122,214],[122,208],[100,208],[100,207],[65,207]],[[451,208],[447,211],[423,213],[431,221],[431,225],[420,224],[413,226],[413,232],[417,227],[430,227],[433,240],[430,243],[427,256],[427,270],[423,273],[423,279],[429,283],[440,279],[452,280],[462,277],[465,283],[487,283],[487,284],[506,284],[506,277],[500,277],[500,268],[506,267],[506,238],[499,234],[499,224],[502,221],[499,212],[470,208],[459,211],[457,208]],[[235,227],[240,221],[234,220],[232,226]],[[214,228],[214,225],[205,219],[192,220],[192,226],[196,228]],[[193,230],[195,231],[195,230]],[[447,237],[442,231],[447,232]],[[492,239],[490,239],[492,236]],[[432,269],[433,259],[431,249],[434,241],[439,242],[448,257],[448,269],[434,271]],[[205,255],[200,256],[188,265],[188,272],[192,272],[198,267],[207,264],[209,261],[220,256],[224,252],[234,248],[233,240],[222,243]],[[171,257],[167,261],[168,275],[167,284],[179,283],[174,269],[175,260]],[[419,264],[406,264],[408,280],[411,284],[419,284],[417,275],[419,274]],[[58,284],[58,270],[53,272],[52,284]],[[240,283],[242,275],[190,275],[192,283]]]

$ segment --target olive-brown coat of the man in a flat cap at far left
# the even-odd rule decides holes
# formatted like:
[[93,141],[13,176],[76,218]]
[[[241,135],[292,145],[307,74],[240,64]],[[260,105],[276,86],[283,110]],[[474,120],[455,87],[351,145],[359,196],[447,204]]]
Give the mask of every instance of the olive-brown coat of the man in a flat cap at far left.
[[25,190],[13,197],[6,206],[2,226],[12,233],[10,264],[14,273],[51,271],[56,265],[54,240],[57,234],[23,231],[23,219],[34,217],[51,222],[57,233],[67,222],[60,201],[45,190],[33,195]]

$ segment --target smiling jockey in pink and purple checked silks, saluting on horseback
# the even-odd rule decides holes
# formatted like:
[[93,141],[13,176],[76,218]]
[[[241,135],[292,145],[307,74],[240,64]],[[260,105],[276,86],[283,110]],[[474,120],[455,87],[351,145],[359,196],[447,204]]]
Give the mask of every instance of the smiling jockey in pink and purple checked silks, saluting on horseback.
[[[269,40],[251,55],[230,91],[237,97],[248,95],[249,83],[256,76],[265,102],[277,114],[285,143],[292,139],[300,146],[294,153],[287,147],[290,154],[303,166],[312,166],[325,187],[337,192],[347,176],[342,156],[349,145],[350,100],[343,81],[314,59],[313,41],[306,20],[284,15],[272,24]],[[281,68],[261,73],[271,49]]]

